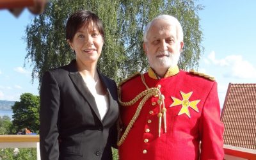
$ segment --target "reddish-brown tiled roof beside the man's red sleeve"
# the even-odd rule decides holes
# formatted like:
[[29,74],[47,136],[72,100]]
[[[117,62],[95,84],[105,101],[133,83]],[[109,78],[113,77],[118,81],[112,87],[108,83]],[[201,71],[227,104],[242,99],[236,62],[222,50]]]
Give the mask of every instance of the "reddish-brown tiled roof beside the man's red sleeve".
[[232,84],[221,112],[224,143],[256,149],[256,84]]

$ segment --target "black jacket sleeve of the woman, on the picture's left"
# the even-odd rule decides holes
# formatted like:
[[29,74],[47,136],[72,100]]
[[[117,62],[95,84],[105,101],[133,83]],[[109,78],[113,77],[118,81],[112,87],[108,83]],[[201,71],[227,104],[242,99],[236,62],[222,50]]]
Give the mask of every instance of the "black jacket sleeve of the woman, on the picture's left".
[[51,72],[45,72],[40,91],[40,155],[41,159],[59,159],[58,113],[60,90]]

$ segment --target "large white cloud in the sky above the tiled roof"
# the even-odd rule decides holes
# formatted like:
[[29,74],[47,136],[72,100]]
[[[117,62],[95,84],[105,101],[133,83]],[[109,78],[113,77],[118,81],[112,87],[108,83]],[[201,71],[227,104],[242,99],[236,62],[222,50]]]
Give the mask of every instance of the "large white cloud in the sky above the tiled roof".
[[225,67],[223,72],[224,77],[234,77],[241,79],[256,78],[256,68],[243,59],[241,55],[230,55],[220,60],[216,59],[215,52],[212,51],[208,55],[208,60],[216,66]]

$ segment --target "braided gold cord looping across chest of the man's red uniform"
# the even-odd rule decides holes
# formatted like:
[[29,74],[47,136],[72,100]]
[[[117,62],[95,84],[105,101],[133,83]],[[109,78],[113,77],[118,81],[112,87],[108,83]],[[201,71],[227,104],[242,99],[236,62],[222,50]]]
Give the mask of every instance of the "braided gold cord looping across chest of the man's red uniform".
[[148,90],[145,90],[143,92],[141,92],[139,95],[137,95],[134,99],[132,99],[129,102],[121,102],[120,103],[123,106],[131,106],[132,104],[134,104],[135,102],[137,102],[138,99],[140,99],[141,97],[143,97],[145,95],[145,97],[143,97],[143,99],[141,100],[138,108],[136,109],[135,114],[133,115],[131,121],[129,122],[129,124],[127,125],[127,128],[124,131],[124,134],[122,135],[122,137],[120,138],[120,140],[117,143],[117,146],[119,147],[120,145],[122,145],[122,143],[124,143],[125,138],[127,138],[127,135],[129,134],[129,132],[131,131],[132,125],[136,122],[138,116],[140,115],[140,111],[143,107],[143,105],[145,104],[145,102],[153,95],[156,95],[159,92],[158,88],[150,88]]

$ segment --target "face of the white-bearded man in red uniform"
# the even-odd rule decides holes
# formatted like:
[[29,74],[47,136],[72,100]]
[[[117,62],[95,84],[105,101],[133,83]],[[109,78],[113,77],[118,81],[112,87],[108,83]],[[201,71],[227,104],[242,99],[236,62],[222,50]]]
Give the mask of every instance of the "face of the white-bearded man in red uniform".
[[167,70],[177,65],[183,42],[177,40],[176,26],[162,19],[152,23],[143,48],[150,67],[154,70]]

